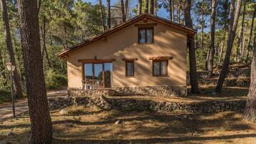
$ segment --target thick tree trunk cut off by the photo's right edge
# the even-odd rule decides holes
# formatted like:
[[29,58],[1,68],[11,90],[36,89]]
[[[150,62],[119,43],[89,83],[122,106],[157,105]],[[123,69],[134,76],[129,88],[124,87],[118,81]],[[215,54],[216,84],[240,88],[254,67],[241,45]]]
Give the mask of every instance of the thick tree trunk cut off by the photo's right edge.
[[[256,33],[255,33],[256,36]],[[256,121],[256,39],[254,42],[254,50],[252,54],[252,66],[251,66],[251,82],[249,87],[249,93],[247,95],[247,102],[245,105],[244,118],[247,120]]]

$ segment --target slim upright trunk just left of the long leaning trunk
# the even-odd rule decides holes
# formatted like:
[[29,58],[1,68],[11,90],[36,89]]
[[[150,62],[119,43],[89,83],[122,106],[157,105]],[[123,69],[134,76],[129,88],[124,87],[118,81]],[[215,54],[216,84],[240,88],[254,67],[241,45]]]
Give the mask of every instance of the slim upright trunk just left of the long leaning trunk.
[[211,44],[209,47],[209,61],[208,61],[208,78],[212,77],[212,67],[214,62],[214,53],[215,53],[215,15],[216,15],[216,0],[212,0],[212,14],[211,14]]

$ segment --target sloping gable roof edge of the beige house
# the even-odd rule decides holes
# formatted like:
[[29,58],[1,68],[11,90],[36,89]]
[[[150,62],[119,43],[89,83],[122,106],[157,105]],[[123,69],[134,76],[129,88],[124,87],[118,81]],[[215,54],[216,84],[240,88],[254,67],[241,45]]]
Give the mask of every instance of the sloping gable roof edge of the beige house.
[[141,15],[133,17],[132,19],[129,19],[128,21],[126,21],[122,24],[119,24],[116,27],[113,27],[111,29],[106,30],[105,32],[103,32],[103,34],[100,34],[96,37],[92,37],[90,39],[86,39],[84,42],[80,42],[79,44],[75,44],[74,46],[63,50],[62,52],[59,52],[57,54],[57,57],[64,58],[67,54],[70,54],[70,52],[74,52],[75,50],[80,49],[81,47],[85,47],[86,45],[91,44],[93,42],[96,42],[99,39],[103,39],[104,37],[107,37],[108,35],[113,34],[114,32],[117,32],[120,29],[128,27],[131,24],[134,24],[137,21],[141,21],[142,19],[145,19],[145,18],[146,19],[151,19],[153,21],[157,21],[161,24],[169,25],[170,27],[174,27],[176,29],[180,29],[180,30],[186,32],[191,37],[193,37],[194,34],[196,34],[194,29],[191,29],[189,27],[185,27],[184,25],[181,25],[181,24],[174,23],[172,21],[169,21],[168,19],[163,19],[161,17],[153,16],[153,15],[150,15],[150,14],[141,14]]

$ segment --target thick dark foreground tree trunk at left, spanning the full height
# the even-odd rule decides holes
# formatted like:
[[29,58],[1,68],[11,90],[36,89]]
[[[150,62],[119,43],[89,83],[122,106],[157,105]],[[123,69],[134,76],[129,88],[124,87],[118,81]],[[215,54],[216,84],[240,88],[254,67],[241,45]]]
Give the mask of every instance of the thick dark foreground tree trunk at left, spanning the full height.
[[31,123],[29,144],[52,143],[52,121],[49,115],[40,52],[37,0],[18,1],[22,37],[22,54],[27,82],[27,99]]

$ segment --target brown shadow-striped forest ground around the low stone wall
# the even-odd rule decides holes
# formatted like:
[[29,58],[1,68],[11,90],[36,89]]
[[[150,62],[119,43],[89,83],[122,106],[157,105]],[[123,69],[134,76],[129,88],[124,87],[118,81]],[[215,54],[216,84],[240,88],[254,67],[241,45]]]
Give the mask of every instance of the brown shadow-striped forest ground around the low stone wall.
[[[202,87],[202,93],[197,97],[207,99],[214,95],[218,100],[228,96],[244,99],[248,92],[244,87],[226,87],[222,95],[215,95],[211,92],[213,88]],[[65,115],[60,110],[51,111],[53,144],[250,144],[256,141],[256,123],[243,120],[240,112],[123,112],[115,109],[101,110],[95,106],[73,106],[66,110]],[[27,113],[20,115],[16,120],[1,122],[0,144],[28,143],[29,123]]]

